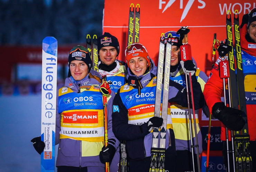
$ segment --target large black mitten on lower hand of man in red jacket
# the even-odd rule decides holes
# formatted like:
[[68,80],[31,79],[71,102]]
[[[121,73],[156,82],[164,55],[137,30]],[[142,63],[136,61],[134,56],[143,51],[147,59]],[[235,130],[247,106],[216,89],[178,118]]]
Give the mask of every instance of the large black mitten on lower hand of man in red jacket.
[[215,103],[212,107],[213,117],[234,131],[239,131],[244,127],[245,120],[241,117],[243,113],[241,110],[226,107],[223,102]]

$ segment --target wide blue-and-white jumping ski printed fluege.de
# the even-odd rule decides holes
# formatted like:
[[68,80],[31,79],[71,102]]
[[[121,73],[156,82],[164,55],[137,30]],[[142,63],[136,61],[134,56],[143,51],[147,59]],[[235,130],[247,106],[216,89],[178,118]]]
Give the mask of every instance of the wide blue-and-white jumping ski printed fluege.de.
[[56,90],[57,40],[48,36],[43,40],[42,52],[41,140],[45,148],[41,153],[41,172],[54,172],[55,169]]

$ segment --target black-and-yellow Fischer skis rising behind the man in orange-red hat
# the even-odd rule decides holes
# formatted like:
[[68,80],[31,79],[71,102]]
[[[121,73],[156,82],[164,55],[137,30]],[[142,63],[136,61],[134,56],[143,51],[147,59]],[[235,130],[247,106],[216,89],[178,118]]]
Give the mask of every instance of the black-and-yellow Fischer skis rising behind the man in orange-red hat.
[[[128,34],[127,34],[127,46],[133,43],[139,43],[139,23],[140,23],[140,6],[131,3],[128,18]],[[128,171],[127,153],[126,153],[126,141],[121,141],[120,144],[121,157],[119,163],[119,172]]]

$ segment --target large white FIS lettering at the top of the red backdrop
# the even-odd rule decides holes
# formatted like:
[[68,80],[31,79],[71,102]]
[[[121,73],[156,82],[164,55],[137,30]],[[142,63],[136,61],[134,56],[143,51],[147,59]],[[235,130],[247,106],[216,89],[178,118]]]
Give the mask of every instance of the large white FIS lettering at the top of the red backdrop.
[[[159,0],[159,9],[162,9],[162,4],[166,4],[166,6],[164,7],[164,10],[162,11],[162,13],[165,12],[165,10],[167,10],[167,8],[171,7],[172,4],[175,2],[176,0],[169,0],[167,2],[167,0]],[[185,19],[186,15],[188,14],[190,8],[192,7],[193,3],[194,3],[195,0],[189,0],[188,3],[186,4],[184,10],[183,10],[183,13],[181,15],[181,21],[183,19]],[[166,3],[167,2],[167,3]],[[198,9],[203,9],[205,7],[205,2],[202,1],[202,0],[198,0],[199,3],[201,3],[202,5],[201,6],[198,6],[197,8]],[[180,0],[180,9],[183,9],[183,0]]]

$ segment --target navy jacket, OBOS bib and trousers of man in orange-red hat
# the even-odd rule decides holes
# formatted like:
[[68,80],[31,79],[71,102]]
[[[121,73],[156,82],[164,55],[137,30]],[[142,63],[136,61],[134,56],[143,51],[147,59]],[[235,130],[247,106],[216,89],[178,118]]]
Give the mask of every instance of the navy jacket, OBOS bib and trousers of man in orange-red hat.
[[[150,149],[152,133],[147,129],[147,121],[154,116],[156,92],[156,66],[151,60],[150,69],[137,77],[128,68],[128,83],[122,86],[113,100],[112,127],[119,140],[126,140],[130,171],[148,171],[150,166]],[[200,84],[192,76],[195,109],[202,107],[204,98]],[[138,89],[140,88],[140,94]],[[169,101],[187,106],[186,90],[180,84],[170,81]],[[175,140],[171,116],[167,117],[167,137],[165,162],[166,170],[175,169]]]

